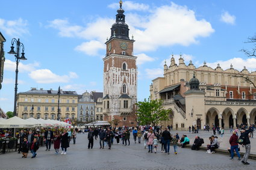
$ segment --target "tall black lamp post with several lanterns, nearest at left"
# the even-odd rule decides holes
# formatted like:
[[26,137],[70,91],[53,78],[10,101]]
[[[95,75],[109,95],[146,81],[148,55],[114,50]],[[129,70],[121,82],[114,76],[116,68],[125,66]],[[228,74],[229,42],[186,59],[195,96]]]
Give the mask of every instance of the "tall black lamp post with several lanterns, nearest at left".
[[[13,44],[16,43],[16,51],[14,50],[14,46]],[[22,47],[22,52],[20,53],[20,47]],[[17,80],[18,80],[18,65],[19,65],[19,61],[20,59],[22,60],[26,60],[27,58],[25,58],[25,53],[24,53],[24,46],[22,43],[20,43],[19,38],[18,40],[16,40],[16,38],[13,38],[11,40],[11,50],[10,52],[8,52],[10,54],[14,54],[15,56],[15,60],[16,60],[16,77],[15,77],[15,88],[14,88],[14,108],[13,108],[13,115],[16,116],[16,105],[17,105]],[[20,56],[21,54],[21,56]]]

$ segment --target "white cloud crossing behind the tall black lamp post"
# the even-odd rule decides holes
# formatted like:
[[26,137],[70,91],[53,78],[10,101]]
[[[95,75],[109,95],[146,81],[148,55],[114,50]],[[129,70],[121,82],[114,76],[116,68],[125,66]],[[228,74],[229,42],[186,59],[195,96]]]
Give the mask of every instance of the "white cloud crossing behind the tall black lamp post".
[[[24,61],[26,62],[26,61]],[[23,62],[19,62],[19,71],[20,72],[30,72],[36,70],[36,67],[39,67],[39,62],[34,62],[30,64],[23,64]],[[15,71],[16,70],[16,62],[11,61],[10,59],[5,59],[4,62],[4,70]]]

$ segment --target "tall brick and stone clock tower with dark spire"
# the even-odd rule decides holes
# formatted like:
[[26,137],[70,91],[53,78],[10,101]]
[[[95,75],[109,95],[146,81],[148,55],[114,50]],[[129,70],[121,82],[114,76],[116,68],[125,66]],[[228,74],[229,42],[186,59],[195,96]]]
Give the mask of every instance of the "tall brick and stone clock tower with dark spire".
[[133,55],[133,37],[125,23],[122,1],[117,10],[116,23],[106,41],[104,61],[104,120],[120,120],[119,126],[134,124],[132,113],[137,102],[137,57]]

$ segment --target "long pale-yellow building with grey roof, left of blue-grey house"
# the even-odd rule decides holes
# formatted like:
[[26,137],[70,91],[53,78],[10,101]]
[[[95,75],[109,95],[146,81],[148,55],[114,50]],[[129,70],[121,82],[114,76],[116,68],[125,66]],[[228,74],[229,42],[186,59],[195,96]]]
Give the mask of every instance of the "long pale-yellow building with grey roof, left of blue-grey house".
[[17,94],[17,116],[27,119],[43,118],[45,120],[60,120],[76,118],[78,94],[75,91],[60,90],[60,114],[58,115],[57,90],[31,90]]

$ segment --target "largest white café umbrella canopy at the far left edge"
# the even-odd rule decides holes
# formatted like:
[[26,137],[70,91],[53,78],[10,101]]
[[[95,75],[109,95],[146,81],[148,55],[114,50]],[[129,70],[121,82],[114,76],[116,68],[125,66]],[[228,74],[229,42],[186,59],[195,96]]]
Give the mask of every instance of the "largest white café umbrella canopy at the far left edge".
[[23,120],[19,117],[12,117],[6,121],[1,121],[0,128],[24,128],[24,127],[35,127],[34,123]]

